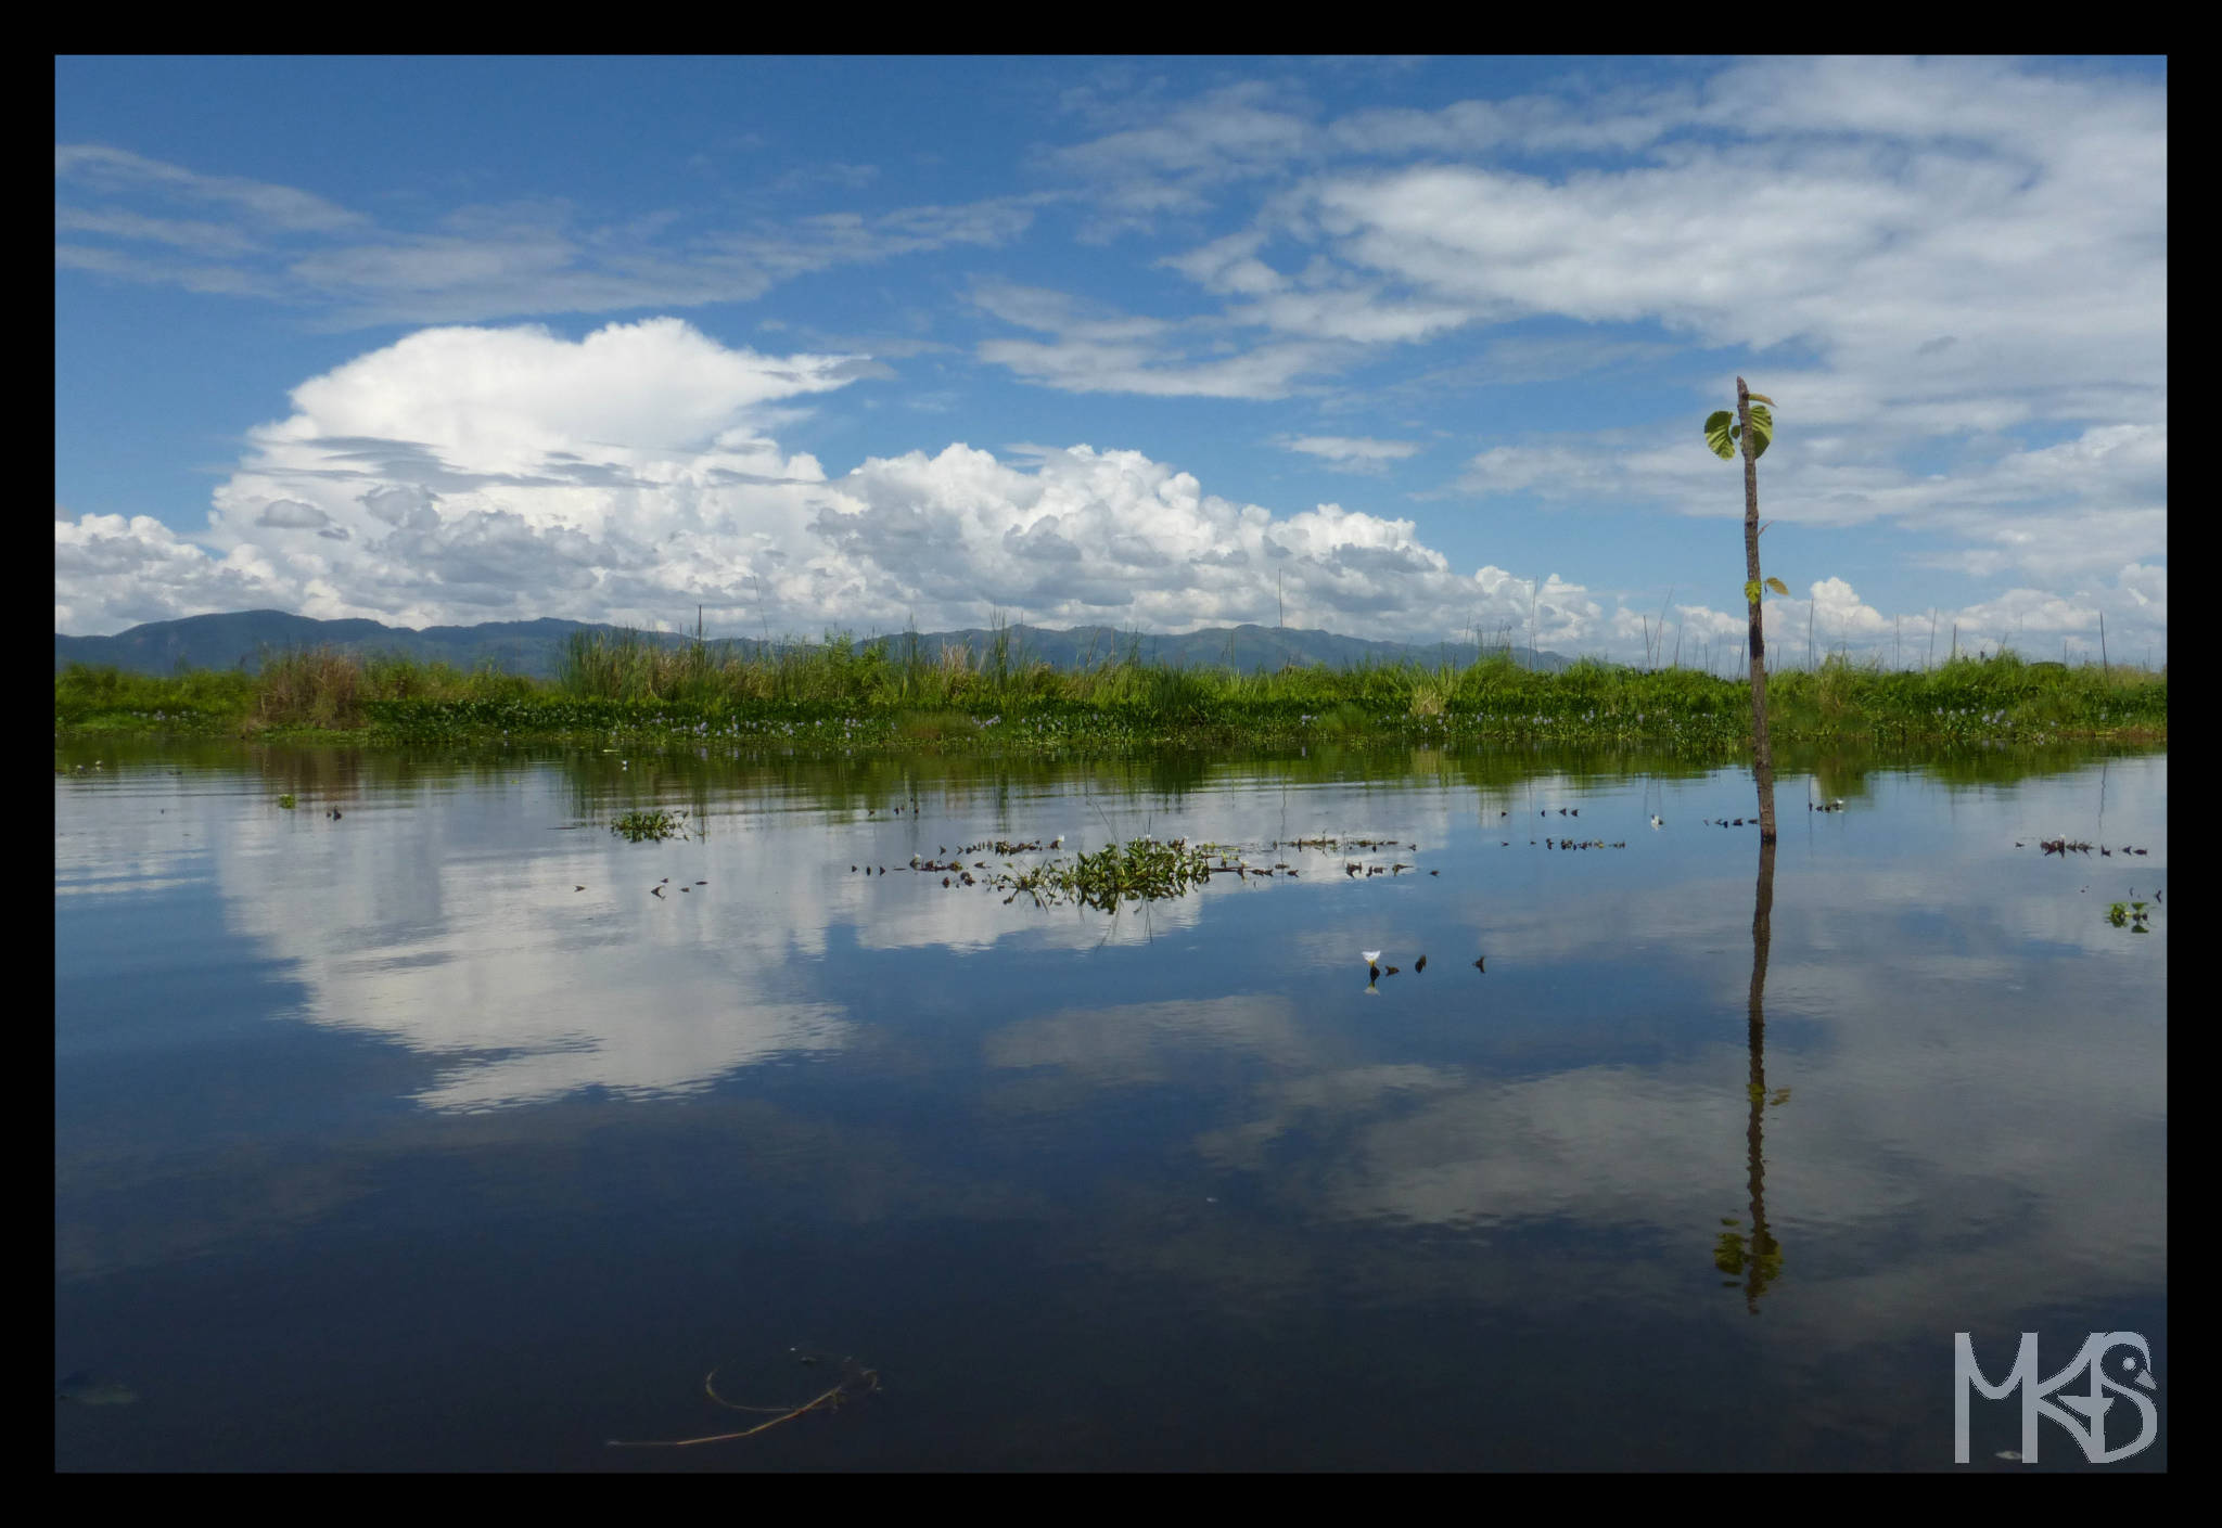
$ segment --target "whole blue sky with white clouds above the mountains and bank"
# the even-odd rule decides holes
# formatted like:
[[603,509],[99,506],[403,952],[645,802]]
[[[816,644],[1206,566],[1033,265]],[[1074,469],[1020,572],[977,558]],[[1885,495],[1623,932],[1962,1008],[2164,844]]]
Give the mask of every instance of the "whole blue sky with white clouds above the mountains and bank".
[[56,62],[58,631],[1724,668],[1738,373],[1784,662],[2164,662],[2164,62]]

